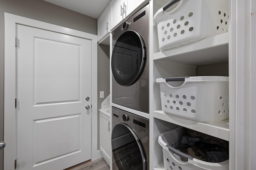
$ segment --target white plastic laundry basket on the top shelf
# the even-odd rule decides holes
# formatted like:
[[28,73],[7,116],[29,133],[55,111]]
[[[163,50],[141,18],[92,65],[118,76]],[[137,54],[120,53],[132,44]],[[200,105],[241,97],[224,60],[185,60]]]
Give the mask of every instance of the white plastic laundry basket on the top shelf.
[[228,32],[228,15],[228,0],[171,0],[154,15],[160,51]]

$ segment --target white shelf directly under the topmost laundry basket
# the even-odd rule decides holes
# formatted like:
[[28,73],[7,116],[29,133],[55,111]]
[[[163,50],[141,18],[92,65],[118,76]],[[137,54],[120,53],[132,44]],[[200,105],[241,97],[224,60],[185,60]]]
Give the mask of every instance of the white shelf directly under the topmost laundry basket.
[[228,62],[228,33],[154,53],[153,59],[170,59],[193,65]]

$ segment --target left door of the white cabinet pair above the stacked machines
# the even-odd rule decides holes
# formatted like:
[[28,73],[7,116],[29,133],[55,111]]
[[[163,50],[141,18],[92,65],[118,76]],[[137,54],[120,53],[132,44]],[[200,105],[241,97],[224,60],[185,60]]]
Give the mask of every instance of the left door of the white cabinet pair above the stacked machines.
[[112,30],[125,18],[124,0],[112,0],[110,2],[110,29]]

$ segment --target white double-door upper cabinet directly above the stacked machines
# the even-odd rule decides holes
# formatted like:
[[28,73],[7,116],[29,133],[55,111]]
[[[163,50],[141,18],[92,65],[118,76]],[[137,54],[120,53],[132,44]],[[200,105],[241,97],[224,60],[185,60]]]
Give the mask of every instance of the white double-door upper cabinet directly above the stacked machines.
[[112,0],[110,2],[110,30],[147,0]]

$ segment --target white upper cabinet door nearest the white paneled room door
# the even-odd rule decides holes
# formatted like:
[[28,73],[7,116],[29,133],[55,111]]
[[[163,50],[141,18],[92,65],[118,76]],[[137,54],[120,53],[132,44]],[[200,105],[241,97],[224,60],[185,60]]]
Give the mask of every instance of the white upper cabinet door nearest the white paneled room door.
[[109,6],[98,19],[98,41],[109,32]]

